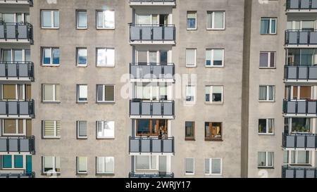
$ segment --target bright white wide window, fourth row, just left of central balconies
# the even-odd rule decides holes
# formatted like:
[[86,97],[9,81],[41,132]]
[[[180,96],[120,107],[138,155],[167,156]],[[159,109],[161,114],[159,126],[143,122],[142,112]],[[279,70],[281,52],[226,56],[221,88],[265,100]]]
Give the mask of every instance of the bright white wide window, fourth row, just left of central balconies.
[[97,121],[97,139],[114,139],[114,134],[114,121]]

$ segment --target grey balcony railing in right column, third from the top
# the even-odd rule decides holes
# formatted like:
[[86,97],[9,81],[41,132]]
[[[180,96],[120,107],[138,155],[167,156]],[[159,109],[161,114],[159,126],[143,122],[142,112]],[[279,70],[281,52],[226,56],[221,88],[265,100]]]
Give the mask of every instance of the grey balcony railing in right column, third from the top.
[[317,65],[289,66],[285,65],[285,82],[317,82]]

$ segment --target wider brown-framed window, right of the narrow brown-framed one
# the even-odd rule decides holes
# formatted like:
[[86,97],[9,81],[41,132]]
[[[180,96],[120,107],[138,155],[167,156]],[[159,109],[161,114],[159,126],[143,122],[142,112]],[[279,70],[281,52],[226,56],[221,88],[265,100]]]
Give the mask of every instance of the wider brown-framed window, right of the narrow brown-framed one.
[[205,122],[205,141],[222,141],[223,123]]

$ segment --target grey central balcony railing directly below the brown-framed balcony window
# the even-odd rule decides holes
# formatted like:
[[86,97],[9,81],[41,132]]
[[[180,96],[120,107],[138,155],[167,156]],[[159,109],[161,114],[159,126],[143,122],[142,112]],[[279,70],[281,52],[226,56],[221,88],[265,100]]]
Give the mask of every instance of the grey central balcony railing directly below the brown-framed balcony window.
[[130,153],[175,153],[174,137],[159,139],[153,137],[131,137],[129,139]]

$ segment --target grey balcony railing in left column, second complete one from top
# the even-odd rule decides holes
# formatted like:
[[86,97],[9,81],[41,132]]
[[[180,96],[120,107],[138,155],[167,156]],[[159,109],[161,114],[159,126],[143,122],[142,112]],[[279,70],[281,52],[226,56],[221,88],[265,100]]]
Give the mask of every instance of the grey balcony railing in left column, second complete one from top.
[[0,61],[0,80],[34,81],[34,64]]

